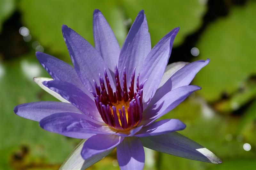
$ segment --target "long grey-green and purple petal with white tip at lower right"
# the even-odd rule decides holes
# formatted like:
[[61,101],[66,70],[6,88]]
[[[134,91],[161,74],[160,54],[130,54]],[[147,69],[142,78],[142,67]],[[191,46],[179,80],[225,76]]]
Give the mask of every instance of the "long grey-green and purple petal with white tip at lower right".
[[222,162],[211,151],[177,132],[142,137],[140,140],[144,147],[155,151],[214,164]]

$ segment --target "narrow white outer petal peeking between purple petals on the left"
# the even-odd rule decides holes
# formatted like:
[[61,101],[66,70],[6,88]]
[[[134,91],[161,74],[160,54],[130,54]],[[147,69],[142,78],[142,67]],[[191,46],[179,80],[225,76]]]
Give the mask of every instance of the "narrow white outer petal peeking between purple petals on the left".
[[64,99],[63,97],[61,97],[58,93],[56,93],[55,91],[49,89],[48,87],[44,86],[43,82],[44,81],[52,81],[52,78],[47,78],[47,77],[35,77],[33,79],[35,81],[36,84],[38,84],[38,86],[40,86],[42,89],[44,89],[46,92],[48,92],[49,94],[51,94],[53,97],[59,99],[61,102],[66,102],[69,103],[68,100]]

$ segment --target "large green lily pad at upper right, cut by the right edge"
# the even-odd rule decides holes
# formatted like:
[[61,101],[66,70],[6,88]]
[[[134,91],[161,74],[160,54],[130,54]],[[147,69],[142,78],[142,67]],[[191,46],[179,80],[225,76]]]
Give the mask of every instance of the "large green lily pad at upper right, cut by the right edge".
[[200,55],[195,60],[210,58],[209,65],[196,76],[194,84],[202,87],[199,94],[207,101],[220,99],[239,89],[256,74],[255,1],[234,6],[229,15],[210,24],[197,44]]

